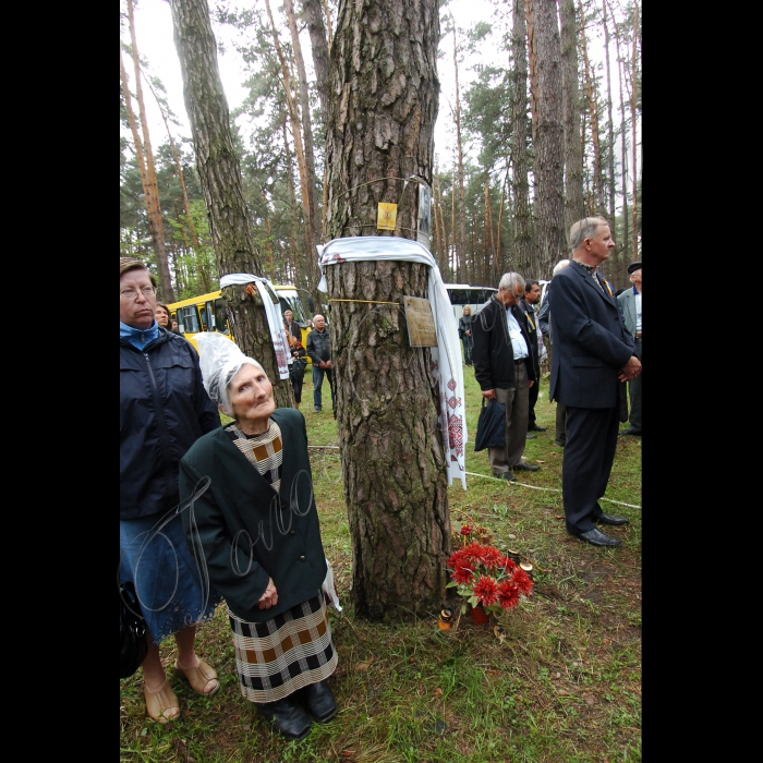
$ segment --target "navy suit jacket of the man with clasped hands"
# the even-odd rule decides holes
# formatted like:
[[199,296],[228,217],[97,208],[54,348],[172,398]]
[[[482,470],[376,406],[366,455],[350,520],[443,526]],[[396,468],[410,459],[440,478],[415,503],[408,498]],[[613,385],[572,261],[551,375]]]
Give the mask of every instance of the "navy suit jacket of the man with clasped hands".
[[[549,398],[576,408],[615,408],[622,393],[617,376],[635,353],[617,301],[574,261],[548,287],[554,313]],[[611,290],[611,287],[609,287]]]

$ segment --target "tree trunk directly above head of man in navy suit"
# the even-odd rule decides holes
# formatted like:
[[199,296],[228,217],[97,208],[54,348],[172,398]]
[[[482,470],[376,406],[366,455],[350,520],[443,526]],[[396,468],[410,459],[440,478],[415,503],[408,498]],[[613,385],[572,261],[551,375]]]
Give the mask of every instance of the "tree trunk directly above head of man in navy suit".
[[[585,217],[583,203],[583,144],[580,140],[578,90],[578,24],[574,0],[559,0],[561,20],[561,96],[565,128],[565,226]],[[550,275],[550,274],[549,274]]]

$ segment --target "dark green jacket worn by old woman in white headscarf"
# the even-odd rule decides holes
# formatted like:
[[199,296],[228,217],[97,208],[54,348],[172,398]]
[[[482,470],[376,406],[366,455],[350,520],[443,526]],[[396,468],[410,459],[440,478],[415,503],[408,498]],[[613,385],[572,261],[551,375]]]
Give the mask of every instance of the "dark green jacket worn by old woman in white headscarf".
[[[279,408],[271,419],[283,443],[280,495],[223,428],[196,440],[180,462],[186,541],[192,550],[201,550],[209,582],[231,611],[250,622],[263,622],[316,596],[326,578],[304,416]],[[258,609],[268,577],[278,604]]]

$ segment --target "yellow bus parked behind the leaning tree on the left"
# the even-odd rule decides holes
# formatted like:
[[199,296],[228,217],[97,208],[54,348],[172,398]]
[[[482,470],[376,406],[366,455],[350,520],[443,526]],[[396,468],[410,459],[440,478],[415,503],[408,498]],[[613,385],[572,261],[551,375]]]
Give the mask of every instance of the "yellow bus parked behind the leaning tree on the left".
[[[281,316],[287,310],[294,314],[294,320],[302,329],[302,347],[307,348],[307,313],[300,298],[299,291],[293,286],[274,286],[278,294]],[[199,331],[219,331],[233,341],[233,335],[228,324],[228,311],[222,299],[222,292],[210,291],[208,294],[192,296],[167,305],[170,308],[170,317],[178,322],[180,332],[194,346],[194,334]],[[198,348],[196,347],[196,350]],[[310,358],[305,355],[310,363]]]

